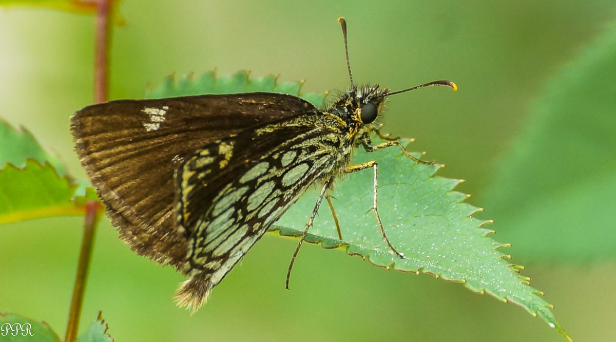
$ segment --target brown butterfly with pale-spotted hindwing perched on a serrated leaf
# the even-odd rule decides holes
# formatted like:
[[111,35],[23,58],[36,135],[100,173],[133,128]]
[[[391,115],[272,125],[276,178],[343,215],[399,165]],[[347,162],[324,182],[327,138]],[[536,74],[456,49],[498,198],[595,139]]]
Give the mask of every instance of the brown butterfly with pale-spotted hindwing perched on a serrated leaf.
[[[287,94],[251,92],[91,105],[71,117],[76,152],[107,208],[120,238],[137,254],[170,264],[188,280],[177,303],[196,311],[254,243],[309,187],[320,188],[287,273],[325,198],[331,206],[336,179],[373,169],[375,213],[378,162],[352,164],[358,147],[367,152],[397,147],[379,131],[391,92],[355,86],[347,30],[342,26],[351,87],[326,108]],[[383,138],[373,144],[372,135]],[[334,218],[335,218],[335,213]],[[336,219],[337,222],[337,219]],[[342,239],[338,224],[338,235]]]

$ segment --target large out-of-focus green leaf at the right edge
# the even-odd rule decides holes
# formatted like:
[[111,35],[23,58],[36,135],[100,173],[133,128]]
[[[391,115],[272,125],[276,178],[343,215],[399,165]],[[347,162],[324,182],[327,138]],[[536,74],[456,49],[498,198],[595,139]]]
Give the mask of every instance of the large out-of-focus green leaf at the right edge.
[[551,79],[498,163],[490,211],[527,258],[614,258],[616,25]]

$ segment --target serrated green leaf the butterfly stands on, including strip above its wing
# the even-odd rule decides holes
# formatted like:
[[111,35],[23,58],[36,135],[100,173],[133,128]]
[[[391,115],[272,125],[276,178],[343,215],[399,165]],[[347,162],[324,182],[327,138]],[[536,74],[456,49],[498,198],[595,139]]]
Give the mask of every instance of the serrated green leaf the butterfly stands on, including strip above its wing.
[[[210,71],[197,81],[186,76],[177,84],[173,76],[168,77],[163,86],[148,92],[147,97],[280,89],[297,95],[300,86],[301,83],[277,83],[273,76],[251,80],[246,71],[219,77]],[[301,97],[322,106],[325,94]],[[509,257],[497,251],[508,245],[486,237],[492,230],[481,226],[490,221],[471,218],[480,209],[463,203],[468,195],[453,191],[460,181],[434,177],[439,165],[417,164],[395,147],[373,153],[357,150],[354,163],[370,160],[379,162],[379,214],[389,240],[405,254],[405,259],[392,254],[376,226],[374,214],[367,212],[372,204],[371,170],[347,176],[334,189],[333,195],[338,198],[334,208],[344,241],[338,240],[329,208],[322,205],[306,238],[308,242],[320,243],[324,248],[344,247],[347,253],[360,255],[376,266],[462,282],[472,291],[487,292],[501,301],[519,304],[570,339],[556,322],[551,304],[540,297],[541,291],[529,287],[529,279],[519,275],[518,270],[523,267],[509,264],[505,261]],[[273,230],[280,230],[282,235],[301,235],[316,198],[316,192],[303,195]]]

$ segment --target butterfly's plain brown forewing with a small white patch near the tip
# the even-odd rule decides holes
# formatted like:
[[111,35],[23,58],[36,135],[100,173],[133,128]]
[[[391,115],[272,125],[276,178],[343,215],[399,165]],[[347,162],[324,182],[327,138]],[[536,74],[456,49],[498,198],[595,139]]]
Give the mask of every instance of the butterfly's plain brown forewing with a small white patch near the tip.
[[298,97],[246,93],[118,100],[71,118],[81,165],[132,250],[179,266],[174,172],[200,147],[315,107]]

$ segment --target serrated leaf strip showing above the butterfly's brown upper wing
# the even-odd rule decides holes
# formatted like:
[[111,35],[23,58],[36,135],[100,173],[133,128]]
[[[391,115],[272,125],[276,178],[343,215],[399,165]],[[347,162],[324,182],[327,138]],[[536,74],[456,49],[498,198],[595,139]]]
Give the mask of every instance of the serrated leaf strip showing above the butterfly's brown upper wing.
[[278,92],[301,97],[317,107],[325,105],[327,92],[322,94],[302,93],[303,82],[278,82],[277,76],[265,76],[251,79],[248,71],[238,71],[233,75],[217,76],[216,71],[208,71],[203,76],[193,79],[193,74],[182,76],[176,83],[176,76],[169,75],[156,89],[147,89],[147,99],[161,97],[190,96],[201,94],[233,94],[239,92]]

